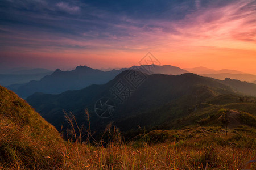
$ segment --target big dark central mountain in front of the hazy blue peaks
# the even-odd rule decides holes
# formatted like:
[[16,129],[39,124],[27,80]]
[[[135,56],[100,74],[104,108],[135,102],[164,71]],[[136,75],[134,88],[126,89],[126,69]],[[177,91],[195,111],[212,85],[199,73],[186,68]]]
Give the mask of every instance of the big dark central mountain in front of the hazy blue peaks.
[[[224,94],[233,94],[236,96],[234,102],[240,101],[240,96],[230,87],[233,84],[225,82],[228,84],[226,85],[221,80],[192,73],[176,76],[152,74],[146,75],[141,85],[134,87],[126,78],[131,75],[143,77],[144,74],[131,73],[132,70],[123,71],[104,85],[93,84],[82,90],[66,91],[58,95],[36,93],[28,97],[27,101],[58,130],[63,123],[64,127],[67,126],[63,111],[73,112],[78,123],[86,126],[84,109],[88,108],[92,130],[97,133],[104,130],[110,122],[123,131],[137,129],[137,125],[172,125],[172,120],[188,116],[195,111],[196,105]],[[125,84],[125,87],[117,93],[122,84]],[[109,113],[110,117],[101,118],[96,113],[104,117],[105,113]]]

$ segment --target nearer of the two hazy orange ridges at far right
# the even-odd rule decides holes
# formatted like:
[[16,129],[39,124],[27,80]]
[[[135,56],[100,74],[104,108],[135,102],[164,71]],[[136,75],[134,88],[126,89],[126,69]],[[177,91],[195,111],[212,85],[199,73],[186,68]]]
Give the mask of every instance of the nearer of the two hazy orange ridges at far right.
[[200,74],[201,76],[208,76],[214,79],[224,80],[225,78],[237,79],[246,82],[252,82],[256,80],[256,75],[253,74],[231,74],[231,73],[219,73],[219,74]]

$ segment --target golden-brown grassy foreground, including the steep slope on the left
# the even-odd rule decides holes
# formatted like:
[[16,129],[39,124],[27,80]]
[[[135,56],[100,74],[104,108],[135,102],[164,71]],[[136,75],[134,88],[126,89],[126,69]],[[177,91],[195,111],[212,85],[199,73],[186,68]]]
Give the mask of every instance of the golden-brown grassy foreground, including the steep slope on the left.
[[[249,161],[256,156],[256,129],[247,124],[255,117],[241,115],[242,126],[227,133],[216,125],[150,133],[141,129],[124,141],[118,128],[109,126],[104,141],[81,142],[77,136],[71,142],[61,139],[26,101],[0,86],[0,169],[254,169]],[[67,118],[73,127],[69,133],[86,130],[76,126],[72,115]]]

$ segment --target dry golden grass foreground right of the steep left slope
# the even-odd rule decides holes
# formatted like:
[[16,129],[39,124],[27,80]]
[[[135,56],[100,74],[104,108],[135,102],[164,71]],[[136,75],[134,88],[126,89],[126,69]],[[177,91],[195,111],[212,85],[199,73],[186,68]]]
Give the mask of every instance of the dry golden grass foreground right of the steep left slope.
[[[86,115],[88,116],[88,111]],[[66,115],[67,116],[67,115]],[[75,117],[67,119],[76,125]],[[75,133],[75,126],[71,126]],[[77,127],[78,128],[78,127]],[[243,128],[241,128],[243,129]],[[241,130],[240,129],[240,130]],[[238,129],[239,130],[239,129]],[[109,128],[108,145],[103,141],[96,145],[88,142],[68,142],[63,146],[62,163],[59,169],[242,169],[249,160],[255,159],[254,131],[240,137],[238,131],[225,131],[220,128],[196,128],[180,131],[166,131],[165,141],[148,144],[148,135],[158,135],[159,131],[144,135],[142,140],[124,142],[117,128]],[[162,133],[162,132],[161,132]],[[194,135],[191,138],[188,134]],[[240,131],[240,133],[242,133]],[[81,134],[79,132],[78,134]],[[172,138],[179,134],[179,140]],[[73,134],[75,135],[75,134]],[[80,139],[77,137],[75,139]],[[146,142],[145,142],[146,141]],[[229,142],[231,141],[231,142]],[[247,164],[255,168],[255,164]]]

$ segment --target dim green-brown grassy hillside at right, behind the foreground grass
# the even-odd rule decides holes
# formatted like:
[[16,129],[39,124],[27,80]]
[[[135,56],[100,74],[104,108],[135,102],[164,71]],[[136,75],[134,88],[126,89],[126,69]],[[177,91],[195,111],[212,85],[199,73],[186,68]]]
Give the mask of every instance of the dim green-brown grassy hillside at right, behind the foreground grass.
[[[204,103],[191,104],[191,107],[184,111],[185,105],[183,102],[189,104],[190,100],[175,100],[172,103],[164,104],[161,107],[153,109],[150,112],[141,113],[137,116],[130,116],[124,120],[117,121],[115,125],[118,127],[123,127],[129,125],[133,129],[128,130],[124,133],[126,137],[138,135],[141,130],[139,130],[138,125],[145,130],[151,131],[156,129],[183,129],[187,127],[197,127],[197,126],[221,126],[221,121],[218,118],[221,116],[218,114],[220,109],[227,109],[230,111],[238,112],[240,114],[250,114],[252,117],[256,116],[256,99],[254,97],[249,97],[247,102],[240,102],[240,96],[236,95],[217,95],[212,96]],[[155,124],[151,123],[155,120]],[[210,122],[216,122],[216,124],[209,124]],[[253,120],[253,119],[251,119]],[[231,124],[230,124],[231,125]],[[244,124],[241,120],[241,124]],[[251,126],[251,125],[249,125]],[[122,129],[122,128],[121,128]]]

